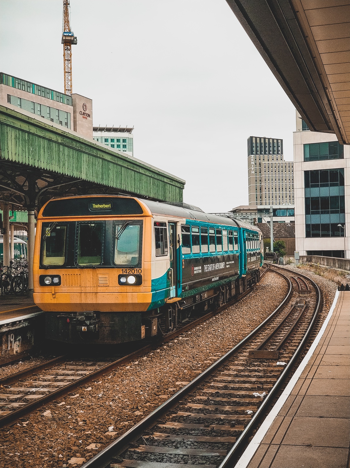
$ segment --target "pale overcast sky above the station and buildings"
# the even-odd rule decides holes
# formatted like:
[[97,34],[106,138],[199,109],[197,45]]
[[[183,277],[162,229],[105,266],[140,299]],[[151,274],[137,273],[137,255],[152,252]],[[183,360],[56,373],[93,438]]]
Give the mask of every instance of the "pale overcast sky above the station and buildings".
[[[0,0],[0,70],[64,90],[62,0]],[[248,204],[247,138],[295,110],[225,0],[71,0],[72,89],[94,125],[134,126],[134,156],[186,180],[208,212]]]

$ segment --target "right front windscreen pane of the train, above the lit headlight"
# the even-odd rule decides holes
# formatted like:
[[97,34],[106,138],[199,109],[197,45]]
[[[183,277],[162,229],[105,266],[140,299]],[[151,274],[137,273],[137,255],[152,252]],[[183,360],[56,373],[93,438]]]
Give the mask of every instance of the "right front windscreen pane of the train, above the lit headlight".
[[140,222],[134,224],[134,221],[114,221],[114,263],[116,265],[136,266],[140,263],[141,226]]

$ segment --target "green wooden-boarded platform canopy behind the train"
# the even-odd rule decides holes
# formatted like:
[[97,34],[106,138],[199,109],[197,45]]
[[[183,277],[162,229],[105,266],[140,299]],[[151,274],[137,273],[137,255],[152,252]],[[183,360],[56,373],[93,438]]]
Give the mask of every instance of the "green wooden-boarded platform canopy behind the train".
[[182,202],[185,181],[0,106],[1,200],[40,208],[53,196],[130,194]]

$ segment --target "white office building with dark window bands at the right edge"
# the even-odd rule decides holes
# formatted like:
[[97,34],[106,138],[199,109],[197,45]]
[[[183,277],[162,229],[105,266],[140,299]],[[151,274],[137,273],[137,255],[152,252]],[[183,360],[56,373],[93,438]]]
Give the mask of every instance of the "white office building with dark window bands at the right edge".
[[350,258],[350,146],[310,132],[297,113],[294,132],[295,249]]

